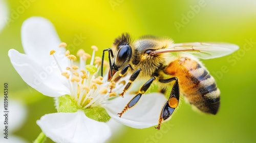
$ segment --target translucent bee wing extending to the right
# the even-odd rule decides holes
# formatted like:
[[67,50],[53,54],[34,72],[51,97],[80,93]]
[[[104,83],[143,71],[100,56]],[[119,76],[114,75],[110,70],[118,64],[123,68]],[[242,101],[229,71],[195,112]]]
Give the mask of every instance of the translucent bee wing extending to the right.
[[201,59],[212,59],[229,55],[238,49],[239,46],[236,44],[222,42],[175,43],[165,49],[153,51],[153,55],[168,52],[186,52]]

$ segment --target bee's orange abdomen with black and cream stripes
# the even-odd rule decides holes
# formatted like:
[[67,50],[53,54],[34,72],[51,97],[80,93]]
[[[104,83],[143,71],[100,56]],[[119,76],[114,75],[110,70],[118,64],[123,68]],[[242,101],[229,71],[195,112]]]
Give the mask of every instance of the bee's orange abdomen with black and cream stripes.
[[199,61],[179,58],[170,62],[165,74],[179,79],[181,94],[199,110],[216,114],[220,106],[220,90],[208,70]]

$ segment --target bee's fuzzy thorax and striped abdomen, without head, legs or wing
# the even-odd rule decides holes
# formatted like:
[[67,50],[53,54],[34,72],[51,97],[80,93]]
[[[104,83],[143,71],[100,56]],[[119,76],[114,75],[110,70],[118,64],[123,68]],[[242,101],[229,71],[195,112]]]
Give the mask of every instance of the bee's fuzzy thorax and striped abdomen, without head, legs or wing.
[[[131,45],[134,49],[129,62],[132,68],[127,71],[127,74],[131,75],[134,70],[141,68],[137,79],[150,79],[154,76],[158,79],[177,77],[180,92],[190,104],[203,112],[216,114],[220,103],[220,91],[214,78],[209,75],[209,72],[199,60],[185,54],[183,56],[186,57],[180,55],[171,57],[172,55],[169,53],[162,53],[158,56],[144,54],[146,50],[164,49],[172,45],[172,43],[172,40],[159,40],[153,36],[144,36],[135,41]],[[122,69],[123,67],[120,68]],[[172,87],[172,83],[162,84],[158,80],[154,82],[155,85],[159,86],[160,90]]]

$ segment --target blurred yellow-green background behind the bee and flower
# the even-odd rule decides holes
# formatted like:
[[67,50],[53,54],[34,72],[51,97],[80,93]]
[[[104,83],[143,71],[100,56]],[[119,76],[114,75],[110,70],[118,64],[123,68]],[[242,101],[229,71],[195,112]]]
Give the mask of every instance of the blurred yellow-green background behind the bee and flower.
[[[100,51],[110,47],[122,32],[129,32],[133,37],[166,36],[175,42],[238,44],[239,51],[232,55],[203,60],[222,93],[217,115],[194,112],[183,101],[160,131],[154,127],[123,127],[121,133],[113,133],[109,142],[256,142],[255,1],[20,0],[6,1],[6,4],[9,20],[0,33],[1,84],[8,82],[10,98],[28,107],[25,124],[13,134],[31,142],[40,133],[36,120],[56,112],[53,99],[29,87],[7,55],[12,48],[24,53],[20,39],[22,23],[31,16],[42,16],[53,22],[63,42],[72,44],[77,35],[86,37],[73,49],[73,54],[79,49],[91,53],[91,45],[98,46]],[[96,55],[101,56],[101,52]],[[47,142],[52,141],[48,138]]]

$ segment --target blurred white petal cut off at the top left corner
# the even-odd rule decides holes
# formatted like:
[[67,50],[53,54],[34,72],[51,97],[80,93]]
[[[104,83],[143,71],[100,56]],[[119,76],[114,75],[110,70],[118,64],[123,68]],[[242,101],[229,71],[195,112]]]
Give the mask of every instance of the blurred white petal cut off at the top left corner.
[[0,0],[0,31],[4,28],[8,18],[8,10],[5,2]]

